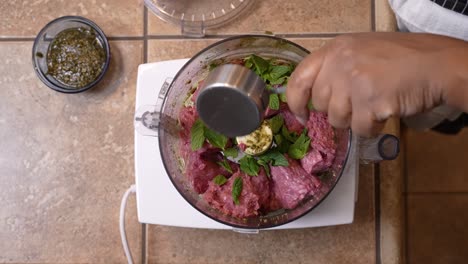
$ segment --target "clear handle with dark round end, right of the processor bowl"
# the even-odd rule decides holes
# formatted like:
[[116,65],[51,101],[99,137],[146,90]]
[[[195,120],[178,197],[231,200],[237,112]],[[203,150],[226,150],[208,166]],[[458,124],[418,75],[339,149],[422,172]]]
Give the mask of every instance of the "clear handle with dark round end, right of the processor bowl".
[[359,158],[361,163],[375,163],[394,160],[400,152],[400,140],[390,134],[374,138],[359,138]]

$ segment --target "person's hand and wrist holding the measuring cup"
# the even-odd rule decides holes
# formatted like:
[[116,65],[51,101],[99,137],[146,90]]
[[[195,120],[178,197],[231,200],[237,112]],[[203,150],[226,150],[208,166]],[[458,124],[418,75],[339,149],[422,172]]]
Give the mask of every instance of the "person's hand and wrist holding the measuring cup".
[[442,103],[466,110],[467,46],[431,34],[342,35],[297,66],[286,89],[288,104],[304,121],[312,100],[334,127],[364,136],[378,133],[389,117]]

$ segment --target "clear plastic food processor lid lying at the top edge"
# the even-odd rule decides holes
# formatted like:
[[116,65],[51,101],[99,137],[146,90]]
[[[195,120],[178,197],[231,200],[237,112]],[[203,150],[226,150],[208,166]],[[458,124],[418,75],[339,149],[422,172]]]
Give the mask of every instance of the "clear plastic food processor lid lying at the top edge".
[[182,34],[202,37],[205,29],[231,22],[254,0],[145,0],[160,19],[181,27]]

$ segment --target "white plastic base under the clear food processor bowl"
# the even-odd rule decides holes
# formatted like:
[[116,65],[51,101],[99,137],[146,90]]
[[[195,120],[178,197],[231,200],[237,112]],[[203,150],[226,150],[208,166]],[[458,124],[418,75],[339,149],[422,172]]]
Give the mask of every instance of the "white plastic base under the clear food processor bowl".
[[[154,105],[168,77],[174,77],[187,59],[142,64],[138,67],[136,109]],[[341,179],[328,197],[309,214],[272,229],[307,228],[353,222],[357,199],[358,161],[356,140]],[[142,223],[210,229],[233,229],[193,208],[177,192],[166,174],[158,138],[135,131],[135,178],[138,220]]]

